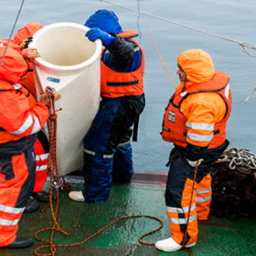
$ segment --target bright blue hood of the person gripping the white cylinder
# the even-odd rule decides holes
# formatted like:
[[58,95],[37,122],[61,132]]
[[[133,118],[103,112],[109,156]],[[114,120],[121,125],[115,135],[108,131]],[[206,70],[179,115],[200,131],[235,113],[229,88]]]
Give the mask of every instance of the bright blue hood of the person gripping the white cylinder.
[[121,33],[123,30],[118,22],[115,12],[98,10],[84,23],[89,28],[99,28],[106,33]]

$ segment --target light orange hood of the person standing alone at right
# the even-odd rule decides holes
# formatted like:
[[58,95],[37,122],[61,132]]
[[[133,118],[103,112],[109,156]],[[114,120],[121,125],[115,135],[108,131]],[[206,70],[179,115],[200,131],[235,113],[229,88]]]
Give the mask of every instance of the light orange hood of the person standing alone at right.
[[186,73],[189,82],[186,85],[193,83],[204,83],[211,80],[214,75],[214,65],[211,56],[202,49],[189,49],[182,52],[177,63]]

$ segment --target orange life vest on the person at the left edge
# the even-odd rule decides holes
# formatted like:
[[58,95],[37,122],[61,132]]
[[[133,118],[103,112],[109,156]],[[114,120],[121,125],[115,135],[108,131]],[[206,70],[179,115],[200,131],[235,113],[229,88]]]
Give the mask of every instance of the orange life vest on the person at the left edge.
[[[17,91],[25,95],[28,98],[29,109],[33,108],[36,104],[35,97],[32,95],[31,92],[29,92],[29,90],[25,86],[22,86],[20,84],[12,84],[7,81],[0,80],[0,93],[3,93],[4,91]],[[7,143],[9,141],[19,140],[20,138],[22,138],[22,136],[7,132],[0,127],[0,143]]]

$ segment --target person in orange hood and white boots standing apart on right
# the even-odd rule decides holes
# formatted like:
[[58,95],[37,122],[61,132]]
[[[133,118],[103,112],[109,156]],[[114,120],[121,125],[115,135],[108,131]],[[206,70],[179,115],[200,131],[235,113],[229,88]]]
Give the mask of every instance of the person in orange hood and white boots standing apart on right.
[[232,107],[229,78],[214,69],[207,52],[189,49],[177,63],[180,85],[166,108],[161,132],[163,140],[174,144],[165,192],[172,236],[156,243],[164,252],[196,244],[198,220],[207,220],[210,211],[210,173],[229,144],[226,125]]

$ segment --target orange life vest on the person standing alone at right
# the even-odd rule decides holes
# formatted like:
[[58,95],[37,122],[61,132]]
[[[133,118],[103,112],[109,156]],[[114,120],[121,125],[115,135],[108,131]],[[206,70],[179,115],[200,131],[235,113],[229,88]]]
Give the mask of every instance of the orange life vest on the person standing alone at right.
[[161,132],[164,141],[173,142],[175,145],[186,147],[187,133],[186,122],[188,118],[180,112],[180,106],[183,100],[187,99],[193,93],[216,92],[225,101],[226,113],[220,122],[214,124],[213,138],[209,142],[208,148],[216,148],[226,140],[226,125],[230,116],[232,97],[228,76],[224,72],[215,70],[212,79],[205,83],[194,84],[189,88],[186,95],[184,92],[176,92],[173,99],[170,100],[164,114],[163,131]]

